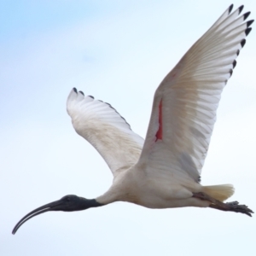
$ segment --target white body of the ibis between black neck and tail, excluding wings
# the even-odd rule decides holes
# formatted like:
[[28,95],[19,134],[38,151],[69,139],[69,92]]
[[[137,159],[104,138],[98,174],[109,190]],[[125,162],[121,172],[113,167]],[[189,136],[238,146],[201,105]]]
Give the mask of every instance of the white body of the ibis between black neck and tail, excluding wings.
[[128,201],[148,208],[208,207],[209,201],[199,201],[193,192],[203,191],[199,183],[185,178],[147,177],[143,166],[133,166],[120,173],[113,185],[96,201],[105,205],[114,201]]

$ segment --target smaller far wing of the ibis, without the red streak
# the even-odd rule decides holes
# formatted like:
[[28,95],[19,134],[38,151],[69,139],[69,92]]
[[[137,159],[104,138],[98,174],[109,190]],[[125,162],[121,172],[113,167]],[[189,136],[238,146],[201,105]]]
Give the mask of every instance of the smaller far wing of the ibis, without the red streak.
[[67,98],[73,127],[107,162],[113,176],[137,163],[144,140],[108,103],[85,96],[75,88]]

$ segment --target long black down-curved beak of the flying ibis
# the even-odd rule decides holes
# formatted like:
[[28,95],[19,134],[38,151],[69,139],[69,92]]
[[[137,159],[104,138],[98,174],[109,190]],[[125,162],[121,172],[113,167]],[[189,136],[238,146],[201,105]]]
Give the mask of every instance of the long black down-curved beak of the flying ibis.
[[33,218],[37,216],[38,214],[49,212],[49,211],[58,211],[61,210],[60,207],[63,204],[61,200],[50,202],[49,204],[44,205],[43,207],[38,207],[37,209],[33,210],[32,212],[29,212],[20,219],[20,221],[15,225],[15,228],[12,232],[13,235],[19,230],[20,226],[24,224],[28,219]]

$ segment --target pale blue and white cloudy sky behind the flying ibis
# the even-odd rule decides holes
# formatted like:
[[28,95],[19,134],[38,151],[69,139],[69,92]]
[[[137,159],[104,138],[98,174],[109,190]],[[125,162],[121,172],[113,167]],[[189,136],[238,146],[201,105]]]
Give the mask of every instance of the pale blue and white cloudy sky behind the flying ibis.
[[[255,19],[256,3],[241,4]],[[255,251],[256,217],[213,209],[151,210],[125,202],[47,212],[63,195],[95,198],[112,174],[73,130],[73,87],[109,102],[145,137],[154,90],[230,1],[0,1],[0,254],[241,255]],[[253,43],[254,42],[254,43]],[[204,185],[232,183],[256,211],[256,34],[222,94],[202,170]]]

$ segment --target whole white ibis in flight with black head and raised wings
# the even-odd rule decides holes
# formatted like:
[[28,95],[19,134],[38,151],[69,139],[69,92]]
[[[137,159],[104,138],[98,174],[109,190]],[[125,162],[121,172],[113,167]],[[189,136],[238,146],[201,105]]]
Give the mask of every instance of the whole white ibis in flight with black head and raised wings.
[[84,96],[76,88],[67,97],[74,130],[96,148],[113,173],[108,191],[87,199],[65,195],[26,214],[28,219],[51,211],[73,212],[126,201],[148,208],[210,207],[226,212],[254,213],[237,201],[231,184],[201,184],[222,90],[236,57],[246,44],[253,20],[243,5],[233,4],[162,80],[154,93],[148,131],[143,140],[110,104]]

